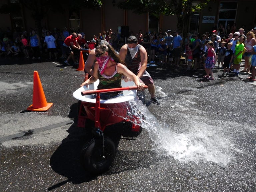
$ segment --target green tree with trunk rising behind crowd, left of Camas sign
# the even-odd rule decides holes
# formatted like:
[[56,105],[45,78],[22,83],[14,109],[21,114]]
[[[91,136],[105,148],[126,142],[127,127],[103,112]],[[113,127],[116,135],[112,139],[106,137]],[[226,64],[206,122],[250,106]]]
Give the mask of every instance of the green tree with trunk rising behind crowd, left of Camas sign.
[[187,33],[188,21],[191,13],[194,11],[202,10],[207,2],[199,2],[195,0],[126,0],[120,2],[118,7],[125,10],[133,10],[136,14],[142,14],[147,12],[162,13],[163,15],[176,15],[177,17],[177,29],[183,32],[183,35]]

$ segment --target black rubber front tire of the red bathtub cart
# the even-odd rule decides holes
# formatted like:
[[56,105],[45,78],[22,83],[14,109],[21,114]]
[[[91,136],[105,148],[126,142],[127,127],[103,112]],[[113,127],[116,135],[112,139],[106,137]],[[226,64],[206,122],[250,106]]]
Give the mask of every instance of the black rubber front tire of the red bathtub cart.
[[95,139],[92,139],[84,145],[81,151],[81,163],[93,175],[107,171],[116,155],[115,144],[108,137],[104,137],[105,158],[101,157],[102,146],[96,145]]

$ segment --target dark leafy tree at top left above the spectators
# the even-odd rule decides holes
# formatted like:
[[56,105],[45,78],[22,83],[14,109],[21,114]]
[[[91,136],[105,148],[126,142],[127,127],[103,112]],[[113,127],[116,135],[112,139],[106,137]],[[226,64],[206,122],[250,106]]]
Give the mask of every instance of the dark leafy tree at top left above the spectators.
[[35,20],[38,34],[41,34],[41,21],[49,12],[64,12],[68,7],[73,10],[81,8],[100,8],[101,0],[16,0],[16,3],[4,4],[0,7],[0,13],[15,13],[21,6],[26,7],[31,12]]

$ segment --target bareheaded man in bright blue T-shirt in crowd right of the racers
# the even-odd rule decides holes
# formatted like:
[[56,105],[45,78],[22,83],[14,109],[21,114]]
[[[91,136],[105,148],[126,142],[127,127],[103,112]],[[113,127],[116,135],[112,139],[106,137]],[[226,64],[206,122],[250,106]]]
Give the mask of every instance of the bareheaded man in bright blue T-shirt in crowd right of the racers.
[[176,67],[179,67],[182,44],[183,44],[182,37],[178,35],[178,30],[176,29],[173,31],[173,41],[172,41],[174,65]]

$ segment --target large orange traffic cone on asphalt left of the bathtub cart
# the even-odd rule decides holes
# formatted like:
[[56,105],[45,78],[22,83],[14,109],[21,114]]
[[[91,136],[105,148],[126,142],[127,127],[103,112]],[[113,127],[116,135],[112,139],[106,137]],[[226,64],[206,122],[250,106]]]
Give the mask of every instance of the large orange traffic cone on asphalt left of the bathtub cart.
[[47,111],[53,103],[47,103],[37,71],[34,71],[33,102],[28,111]]

